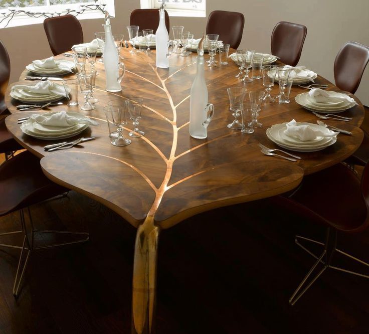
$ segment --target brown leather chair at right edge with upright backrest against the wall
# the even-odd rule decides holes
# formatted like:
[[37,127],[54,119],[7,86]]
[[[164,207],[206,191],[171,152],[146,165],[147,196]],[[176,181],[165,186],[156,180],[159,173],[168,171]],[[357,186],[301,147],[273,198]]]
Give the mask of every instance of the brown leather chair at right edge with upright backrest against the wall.
[[[339,89],[354,94],[360,84],[365,67],[369,62],[369,47],[349,41],[341,47],[334,60],[334,81]],[[350,164],[364,166],[369,161],[369,134],[359,148],[347,159]]]

